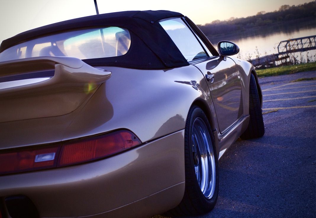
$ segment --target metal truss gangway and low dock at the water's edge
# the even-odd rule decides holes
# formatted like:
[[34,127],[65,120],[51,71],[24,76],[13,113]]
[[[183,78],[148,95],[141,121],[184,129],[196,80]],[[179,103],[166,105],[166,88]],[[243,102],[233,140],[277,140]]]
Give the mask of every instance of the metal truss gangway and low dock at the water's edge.
[[250,60],[255,67],[276,65],[276,61],[289,58],[290,53],[306,52],[316,49],[316,35],[281,41],[277,47],[278,53]]

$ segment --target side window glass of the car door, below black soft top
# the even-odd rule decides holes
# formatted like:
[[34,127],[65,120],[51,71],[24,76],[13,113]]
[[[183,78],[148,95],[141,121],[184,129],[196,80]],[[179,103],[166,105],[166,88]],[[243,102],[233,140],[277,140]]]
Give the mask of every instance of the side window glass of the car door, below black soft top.
[[181,18],[159,22],[187,61],[208,57],[203,47]]

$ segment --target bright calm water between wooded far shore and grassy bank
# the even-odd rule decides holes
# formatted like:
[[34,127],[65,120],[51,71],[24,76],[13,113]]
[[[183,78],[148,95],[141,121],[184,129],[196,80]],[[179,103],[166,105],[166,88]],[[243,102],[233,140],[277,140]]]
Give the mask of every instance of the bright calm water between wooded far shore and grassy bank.
[[[278,53],[277,46],[280,41],[311,35],[316,35],[316,28],[299,29],[292,32],[275,32],[272,34],[240,38],[238,40],[233,40],[233,42],[240,48],[240,53],[235,56],[241,59],[254,59],[258,53],[260,57],[268,54],[275,54]],[[295,55],[299,56],[298,59],[301,58],[300,54],[295,53]],[[312,60],[315,61],[316,50],[302,53],[303,62],[306,62],[306,55],[312,57]]]

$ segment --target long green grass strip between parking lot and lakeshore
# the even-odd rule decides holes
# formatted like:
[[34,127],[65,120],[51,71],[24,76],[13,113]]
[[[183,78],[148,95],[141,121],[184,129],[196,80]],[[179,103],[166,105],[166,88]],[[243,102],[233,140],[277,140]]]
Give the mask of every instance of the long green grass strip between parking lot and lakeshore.
[[285,74],[292,74],[292,73],[306,72],[306,71],[315,71],[315,70],[316,70],[316,62],[313,62],[313,63],[305,63],[305,64],[272,67],[268,69],[258,69],[256,70],[256,72],[258,74],[258,77],[270,77],[270,76],[278,76],[278,75],[285,75]]

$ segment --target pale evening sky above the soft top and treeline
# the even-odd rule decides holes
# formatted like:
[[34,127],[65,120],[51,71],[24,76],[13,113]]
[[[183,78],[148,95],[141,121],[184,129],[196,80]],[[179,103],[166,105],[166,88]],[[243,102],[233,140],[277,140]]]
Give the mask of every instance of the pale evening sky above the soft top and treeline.
[[[311,0],[97,0],[100,14],[125,10],[171,10],[188,16],[196,24],[230,17],[271,12],[281,5]],[[94,0],[0,0],[0,42],[29,29],[77,17],[95,15]]]

